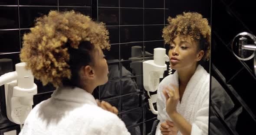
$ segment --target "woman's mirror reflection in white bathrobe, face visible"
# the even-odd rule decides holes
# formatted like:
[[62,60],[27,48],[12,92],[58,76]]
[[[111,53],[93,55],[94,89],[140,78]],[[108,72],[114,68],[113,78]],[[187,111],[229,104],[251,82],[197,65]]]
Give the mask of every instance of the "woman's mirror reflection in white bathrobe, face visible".
[[163,29],[170,67],[158,88],[157,135],[208,135],[210,74],[200,65],[209,60],[210,26],[199,13],[168,18]]

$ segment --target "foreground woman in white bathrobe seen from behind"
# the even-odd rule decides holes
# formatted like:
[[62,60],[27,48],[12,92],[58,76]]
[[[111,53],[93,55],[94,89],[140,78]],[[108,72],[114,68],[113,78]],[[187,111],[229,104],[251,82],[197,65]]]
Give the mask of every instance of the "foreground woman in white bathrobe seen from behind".
[[118,110],[92,96],[108,81],[102,49],[110,45],[103,23],[74,11],[50,11],[30,30],[21,61],[43,85],[57,89],[32,109],[20,135],[130,135]]

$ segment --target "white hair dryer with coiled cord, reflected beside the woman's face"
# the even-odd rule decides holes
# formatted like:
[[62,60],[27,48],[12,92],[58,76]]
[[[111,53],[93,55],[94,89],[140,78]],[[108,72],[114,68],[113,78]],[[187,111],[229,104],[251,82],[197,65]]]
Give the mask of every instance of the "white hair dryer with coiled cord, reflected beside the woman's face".
[[154,60],[143,62],[143,86],[148,91],[149,107],[154,114],[158,114],[158,111],[153,106],[153,103],[156,102],[157,94],[150,95],[149,92],[154,92],[158,89],[160,78],[163,78],[164,71],[167,70],[165,61],[168,62],[170,59],[165,53],[165,48],[154,48]]

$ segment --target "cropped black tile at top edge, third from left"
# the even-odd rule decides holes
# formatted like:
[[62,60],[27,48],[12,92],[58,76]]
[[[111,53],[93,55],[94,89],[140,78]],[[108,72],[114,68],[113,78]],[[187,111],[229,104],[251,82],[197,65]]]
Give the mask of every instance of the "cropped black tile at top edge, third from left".
[[59,0],[59,6],[91,6],[91,0]]

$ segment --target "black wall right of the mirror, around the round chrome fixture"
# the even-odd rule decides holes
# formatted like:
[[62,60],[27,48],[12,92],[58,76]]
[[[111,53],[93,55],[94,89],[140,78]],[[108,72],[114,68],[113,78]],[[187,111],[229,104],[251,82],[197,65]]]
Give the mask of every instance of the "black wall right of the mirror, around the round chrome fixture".
[[[253,60],[240,61],[231,42],[240,32],[255,35],[251,0],[212,0],[212,135],[253,134],[256,127],[256,77]],[[217,83],[218,82],[218,83]]]

